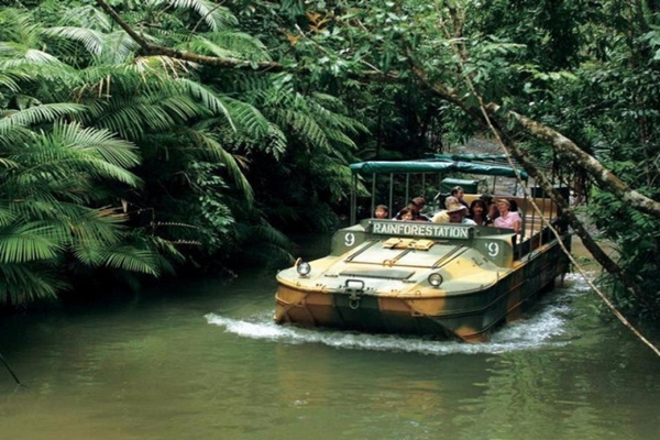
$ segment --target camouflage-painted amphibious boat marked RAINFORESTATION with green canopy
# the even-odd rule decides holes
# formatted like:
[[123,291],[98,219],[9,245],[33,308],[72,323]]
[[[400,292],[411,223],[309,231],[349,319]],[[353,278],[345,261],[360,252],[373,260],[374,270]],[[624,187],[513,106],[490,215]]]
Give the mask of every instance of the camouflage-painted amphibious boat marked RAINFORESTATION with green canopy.
[[527,186],[526,173],[503,165],[501,158],[439,155],[425,161],[352,164],[354,224],[333,235],[330,255],[310,262],[298,260],[277,274],[275,321],[487,340],[497,324],[517,318],[538,294],[569,271],[562,248],[570,250],[570,233],[557,206],[539,188],[527,187],[527,197],[493,195],[493,199],[517,202],[522,219],[519,234],[490,226],[374,218],[356,221],[355,206],[359,186],[371,178],[374,211],[375,197],[386,191],[383,185],[376,186],[383,176],[389,178],[391,207],[395,187],[402,188],[403,182],[402,200],[408,199],[410,190],[416,190],[415,195],[436,194],[455,182],[474,184],[472,194],[465,195],[468,201],[481,197],[474,188],[485,179],[452,180],[444,177],[448,174],[494,176],[494,187],[504,177],[525,180]]

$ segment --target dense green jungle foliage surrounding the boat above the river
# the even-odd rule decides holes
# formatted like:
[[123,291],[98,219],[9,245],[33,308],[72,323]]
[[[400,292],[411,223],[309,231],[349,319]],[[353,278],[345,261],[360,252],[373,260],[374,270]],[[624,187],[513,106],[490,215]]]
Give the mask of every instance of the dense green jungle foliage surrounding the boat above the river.
[[613,297],[660,310],[660,1],[0,7],[6,307],[282,265],[345,212],[349,163],[486,136],[571,176]]

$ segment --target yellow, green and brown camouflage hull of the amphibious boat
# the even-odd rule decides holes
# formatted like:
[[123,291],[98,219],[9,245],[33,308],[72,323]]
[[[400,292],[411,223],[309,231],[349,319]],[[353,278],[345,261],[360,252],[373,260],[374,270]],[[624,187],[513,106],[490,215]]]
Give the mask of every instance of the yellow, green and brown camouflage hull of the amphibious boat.
[[[564,241],[570,244],[570,235]],[[372,248],[385,246],[385,242],[367,243],[355,254],[364,255]],[[419,262],[427,256],[432,261],[430,267],[376,267],[367,256],[356,261],[349,252],[320,260],[316,275],[299,276],[295,268],[282,271],[277,276],[275,321],[485,341],[497,324],[518,318],[569,267],[557,241],[538,245],[521,260],[512,260],[509,267],[492,264],[464,244],[462,252],[449,246],[437,254],[425,254],[427,250],[410,257]],[[376,252],[378,257],[389,257],[381,249]],[[399,262],[403,260],[399,257]],[[351,264],[358,267],[346,268]],[[426,278],[431,272],[441,272],[448,279],[439,287],[430,286]]]

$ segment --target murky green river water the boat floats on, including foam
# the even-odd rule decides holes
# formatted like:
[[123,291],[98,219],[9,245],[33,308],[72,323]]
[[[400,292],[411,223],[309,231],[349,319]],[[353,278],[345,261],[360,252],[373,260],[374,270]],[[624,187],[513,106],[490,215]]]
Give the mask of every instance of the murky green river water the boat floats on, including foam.
[[0,352],[25,387],[0,364],[0,439],[660,432],[660,359],[578,275],[482,344],[278,327],[274,292],[274,273],[254,271],[3,318]]

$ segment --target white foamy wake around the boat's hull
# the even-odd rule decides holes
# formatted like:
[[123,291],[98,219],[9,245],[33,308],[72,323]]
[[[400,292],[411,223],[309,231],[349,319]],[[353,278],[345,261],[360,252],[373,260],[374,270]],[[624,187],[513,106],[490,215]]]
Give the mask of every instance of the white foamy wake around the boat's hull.
[[[574,275],[569,275],[566,278],[571,276]],[[540,309],[531,318],[521,319],[501,328],[492,336],[490,342],[474,344],[432,341],[399,334],[371,334],[278,326],[272,320],[272,311],[246,319],[228,318],[217,314],[208,314],[205,318],[208,323],[221,327],[228,333],[289,344],[320,343],[348,350],[411,352],[430,355],[503,353],[569,344],[571,336],[566,327],[571,317],[572,297],[585,294],[584,289],[575,287],[572,286],[570,289],[560,292],[559,295],[553,295],[552,299],[541,302]]]

